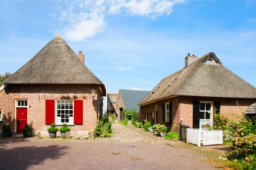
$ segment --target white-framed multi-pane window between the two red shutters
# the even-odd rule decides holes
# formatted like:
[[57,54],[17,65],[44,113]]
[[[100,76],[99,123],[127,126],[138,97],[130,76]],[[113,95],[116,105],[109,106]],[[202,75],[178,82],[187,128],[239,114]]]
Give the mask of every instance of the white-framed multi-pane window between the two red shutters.
[[73,100],[57,100],[56,101],[56,123],[57,124],[73,124],[74,123],[74,107]]

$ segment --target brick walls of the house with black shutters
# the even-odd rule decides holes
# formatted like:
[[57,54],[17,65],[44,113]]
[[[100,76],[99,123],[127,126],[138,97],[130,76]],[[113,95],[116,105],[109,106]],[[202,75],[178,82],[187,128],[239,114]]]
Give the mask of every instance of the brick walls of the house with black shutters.
[[[177,96],[169,99],[160,100],[148,105],[143,105],[140,109],[139,119],[142,121],[145,119],[145,111],[149,113],[154,111],[154,105],[158,106],[158,122],[163,124],[162,121],[162,104],[165,102],[172,102],[172,128],[176,132],[179,132],[179,123],[182,119],[182,124],[193,126],[193,102],[195,101],[209,101],[209,102],[221,102],[221,112],[225,116],[236,120],[237,117],[231,113],[235,113],[238,116],[242,116],[242,110],[246,110],[251,102],[256,102],[256,99],[233,99],[233,98],[215,98],[215,97],[198,97],[198,96]],[[239,106],[236,105],[238,101]]]

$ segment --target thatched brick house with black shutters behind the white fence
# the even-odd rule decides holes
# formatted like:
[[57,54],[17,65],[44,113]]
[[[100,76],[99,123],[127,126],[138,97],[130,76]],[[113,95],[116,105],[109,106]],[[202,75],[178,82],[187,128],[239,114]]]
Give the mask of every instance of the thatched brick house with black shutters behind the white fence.
[[241,116],[241,109],[256,102],[256,88],[225,68],[213,52],[197,59],[185,57],[185,67],[165,77],[138,104],[139,119],[154,115],[154,123],[169,122],[178,131],[179,122],[199,128],[212,122],[214,107],[221,108],[228,117],[230,113]]

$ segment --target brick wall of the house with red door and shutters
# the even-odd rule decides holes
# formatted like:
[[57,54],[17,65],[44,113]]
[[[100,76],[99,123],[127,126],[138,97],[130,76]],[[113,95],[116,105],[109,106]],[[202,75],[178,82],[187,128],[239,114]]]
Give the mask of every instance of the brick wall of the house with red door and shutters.
[[[45,125],[46,99],[79,99],[83,100],[83,125],[69,126],[73,131],[91,131],[96,125],[98,98],[94,101],[91,89],[97,85],[9,85],[0,91],[0,109],[3,110],[3,124],[9,124],[15,130],[15,99],[28,100],[28,123],[34,130],[47,130]],[[101,102],[101,101],[99,101]],[[58,126],[58,128],[61,126]]]

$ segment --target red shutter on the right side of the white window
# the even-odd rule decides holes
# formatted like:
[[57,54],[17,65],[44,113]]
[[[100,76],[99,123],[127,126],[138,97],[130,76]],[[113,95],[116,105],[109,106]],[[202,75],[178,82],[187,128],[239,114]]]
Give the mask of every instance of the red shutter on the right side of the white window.
[[83,100],[74,100],[74,124],[83,125]]

